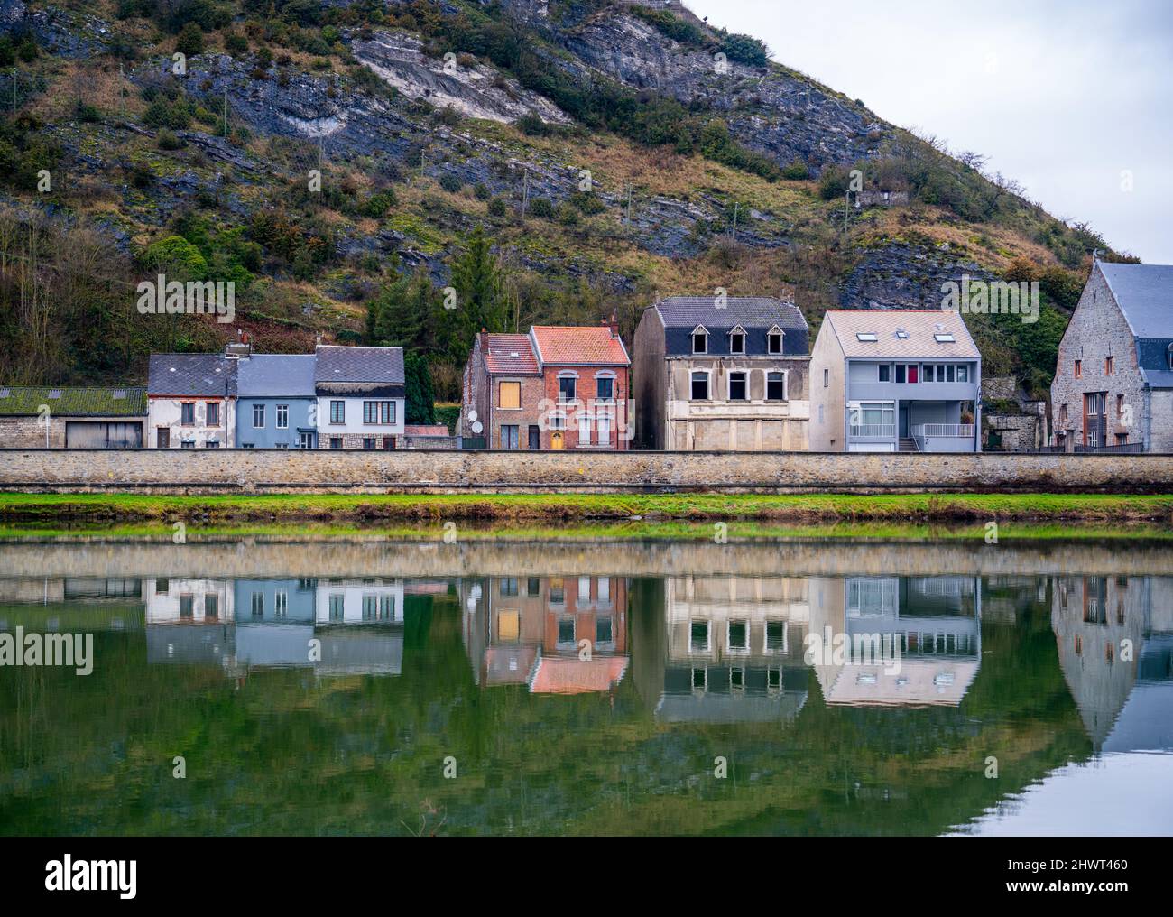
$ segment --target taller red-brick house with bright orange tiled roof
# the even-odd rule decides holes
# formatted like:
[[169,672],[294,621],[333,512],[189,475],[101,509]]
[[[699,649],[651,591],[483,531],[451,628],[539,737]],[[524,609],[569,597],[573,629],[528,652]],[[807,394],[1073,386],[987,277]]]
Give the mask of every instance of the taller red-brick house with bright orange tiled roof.
[[535,325],[529,331],[542,367],[549,422],[545,449],[624,450],[630,416],[631,358],[613,321],[594,327]]

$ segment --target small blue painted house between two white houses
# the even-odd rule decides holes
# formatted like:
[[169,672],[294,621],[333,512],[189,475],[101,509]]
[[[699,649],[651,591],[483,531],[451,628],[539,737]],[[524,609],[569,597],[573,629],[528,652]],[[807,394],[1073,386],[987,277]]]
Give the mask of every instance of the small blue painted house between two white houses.
[[253,354],[237,365],[242,449],[317,449],[313,354]]

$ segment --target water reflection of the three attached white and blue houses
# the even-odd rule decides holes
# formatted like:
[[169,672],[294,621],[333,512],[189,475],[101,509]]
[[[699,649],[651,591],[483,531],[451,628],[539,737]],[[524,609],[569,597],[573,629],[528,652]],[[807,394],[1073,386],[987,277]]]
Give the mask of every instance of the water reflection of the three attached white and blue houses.
[[312,667],[318,675],[399,674],[402,582],[144,580],[149,663]]

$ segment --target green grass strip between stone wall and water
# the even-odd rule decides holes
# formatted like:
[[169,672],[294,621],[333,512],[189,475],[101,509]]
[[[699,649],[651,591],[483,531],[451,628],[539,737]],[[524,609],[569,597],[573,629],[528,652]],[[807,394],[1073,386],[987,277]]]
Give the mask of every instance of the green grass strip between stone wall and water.
[[836,523],[1150,523],[1173,528],[1173,495],[1111,494],[502,494],[224,495],[0,494],[5,523],[238,523],[379,525],[438,521],[490,524],[706,522]]

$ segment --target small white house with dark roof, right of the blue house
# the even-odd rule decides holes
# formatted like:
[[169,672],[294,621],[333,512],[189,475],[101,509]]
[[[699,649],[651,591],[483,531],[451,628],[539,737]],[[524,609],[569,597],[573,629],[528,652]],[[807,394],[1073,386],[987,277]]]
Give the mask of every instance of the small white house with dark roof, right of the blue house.
[[394,449],[407,407],[404,348],[319,345],[314,353],[318,446]]

